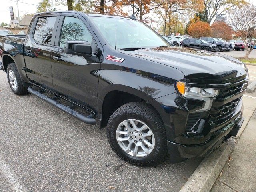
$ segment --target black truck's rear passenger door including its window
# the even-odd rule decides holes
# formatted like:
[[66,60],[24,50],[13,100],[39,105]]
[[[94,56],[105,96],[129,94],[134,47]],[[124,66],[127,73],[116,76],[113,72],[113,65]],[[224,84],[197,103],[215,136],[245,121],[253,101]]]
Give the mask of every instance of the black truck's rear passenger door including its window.
[[52,88],[51,51],[59,18],[58,14],[35,18],[24,42],[27,75],[32,82],[46,88]]

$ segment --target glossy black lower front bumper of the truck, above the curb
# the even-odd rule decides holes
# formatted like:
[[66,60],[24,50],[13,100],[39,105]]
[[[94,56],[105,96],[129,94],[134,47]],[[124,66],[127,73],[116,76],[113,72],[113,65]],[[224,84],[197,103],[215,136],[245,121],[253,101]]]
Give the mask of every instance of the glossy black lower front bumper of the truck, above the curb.
[[228,125],[214,132],[214,134],[212,134],[212,137],[203,144],[182,145],[168,141],[168,152],[169,154],[176,155],[178,152],[178,154],[183,158],[207,156],[208,154],[216,150],[224,142],[224,140],[230,138],[231,136],[236,136],[242,126],[243,121],[244,118],[241,115],[238,116]]

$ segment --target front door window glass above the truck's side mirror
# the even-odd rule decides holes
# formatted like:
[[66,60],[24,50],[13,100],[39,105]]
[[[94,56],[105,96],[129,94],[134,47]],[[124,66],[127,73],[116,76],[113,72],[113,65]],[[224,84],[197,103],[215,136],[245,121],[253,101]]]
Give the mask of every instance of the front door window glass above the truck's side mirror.
[[66,16],[60,34],[60,47],[65,48],[66,41],[88,41],[92,43],[92,35],[80,19]]

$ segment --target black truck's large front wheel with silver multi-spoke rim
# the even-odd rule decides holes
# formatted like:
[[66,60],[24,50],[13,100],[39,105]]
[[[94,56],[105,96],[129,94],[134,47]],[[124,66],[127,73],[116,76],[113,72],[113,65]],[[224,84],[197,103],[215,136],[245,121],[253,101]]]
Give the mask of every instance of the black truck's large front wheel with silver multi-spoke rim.
[[[152,148],[150,148],[149,145],[146,145],[148,149],[147,151],[148,153],[146,153],[146,151],[143,151],[141,147],[143,145],[145,148],[145,143],[144,143],[145,138],[142,138],[143,140],[142,142],[140,142],[141,139],[139,139],[140,141],[138,140],[139,138],[138,134],[140,133],[147,134],[149,132],[149,129],[143,130],[144,132],[136,133],[136,130],[134,130],[134,127],[130,123],[131,119],[134,120],[132,122],[135,122],[135,123],[137,122],[136,126],[138,126],[138,128],[141,128],[140,126],[141,125],[143,126],[143,123],[144,123],[144,125],[146,125],[146,127],[151,130],[152,136],[149,136],[151,137],[150,140],[148,140],[149,137],[147,137],[147,140],[150,144],[153,144],[153,140],[154,140],[154,147],[152,146]],[[123,124],[126,121],[127,121],[126,126],[128,130],[126,130],[126,126]],[[117,128],[120,128],[121,131],[125,130],[126,132],[128,132],[127,135],[121,134],[123,136],[121,137],[121,139],[128,138],[128,140],[122,141],[122,142],[120,142],[120,140],[119,141],[117,140],[117,135],[118,135],[118,133],[116,133]],[[133,130],[133,134],[131,134],[132,130]],[[146,132],[147,130],[148,132]],[[156,165],[163,162],[166,159],[168,154],[167,146],[166,146],[167,139],[166,139],[164,123],[160,118],[159,114],[157,113],[157,111],[152,106],[146,103],[130,102],[118,108],[108,120],[107,137],[108,137],[108,142],[111,148],[114,150],[114,152],[120,158],[132,164],[136,164],[140,166]],[[118,139],[120,139],[119,135],[118,135]],[[123,144],[124,142],[126,142],[127,147],[131,144],[130,150],[127,150],[126,148],[127,152],[125,151],[125,149],[123,149],[125,148],[124,147],[125,145]],[[136,155],[134,155],[134,151],[136,151],[134,150],[136,146],[135,142],[136,143],[138,142],[137,145],[140,145],[138,146],[138,153]],[[150,153],[149,153],[149,150],[151,150]],[[144,153],[144,156],[143,156],[143,153]]]

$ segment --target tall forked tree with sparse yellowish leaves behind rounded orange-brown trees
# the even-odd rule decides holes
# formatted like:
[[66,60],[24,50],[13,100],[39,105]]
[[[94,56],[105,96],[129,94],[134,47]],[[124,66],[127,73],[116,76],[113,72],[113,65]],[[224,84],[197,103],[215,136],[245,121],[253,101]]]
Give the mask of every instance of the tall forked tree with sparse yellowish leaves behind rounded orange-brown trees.
[[204,0],[206,21],[210,24],[215,21],[216,14],[222,14],[233,7],[239,8],[244,4],[246,4],[246,0]]

